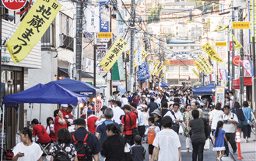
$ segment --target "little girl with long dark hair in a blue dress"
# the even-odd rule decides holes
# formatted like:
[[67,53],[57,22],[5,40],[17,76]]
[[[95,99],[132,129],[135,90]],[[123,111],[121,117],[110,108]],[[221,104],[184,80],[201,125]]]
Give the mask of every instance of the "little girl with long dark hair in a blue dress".
[[225,141],[227,142],[226,135],[225,135],[226,132],[222,128],[223,128],[223,122],[219,121],[217,123],[216,131],[213,132],[214,145],[212,150],[217,151],[216,160],[221,160],[221,158],[223,157],[225,152]]

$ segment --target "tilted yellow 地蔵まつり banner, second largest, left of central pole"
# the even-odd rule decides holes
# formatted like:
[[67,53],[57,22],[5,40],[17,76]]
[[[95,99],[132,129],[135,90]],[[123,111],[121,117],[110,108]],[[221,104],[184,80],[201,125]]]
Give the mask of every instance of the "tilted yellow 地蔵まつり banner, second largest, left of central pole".
[[114,44],[111,46],[110,50],[108,50],[105,57],[103,57],[103,60],[100,62],[103,70],[108,72],[111,67],[113,67],[114,63],[117,61],[118,57],[121,56],[121,53],[126,48],[126,46],[128,46],[128,43],[121,37],[118,37]]

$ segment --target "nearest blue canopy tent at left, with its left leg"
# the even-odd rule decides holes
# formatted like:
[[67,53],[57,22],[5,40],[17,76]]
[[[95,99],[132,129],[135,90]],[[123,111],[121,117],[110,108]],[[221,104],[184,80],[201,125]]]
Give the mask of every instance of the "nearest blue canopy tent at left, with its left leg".
[[[69,91],[58,84],[37,84],[25,91],[21,91],[16,94],[10,94],[3,97],[3,122],[5,120],[5,104],[16,103],[46,103],[46,104],[72,104],[77,105],[79,102],[87,102],[87,96],[76,94]],[[13,106],[9,106],[13,107]],[[4,135],[4,128],[2,128],[2,138]],[[2,139],[3,148],[3,139]]]

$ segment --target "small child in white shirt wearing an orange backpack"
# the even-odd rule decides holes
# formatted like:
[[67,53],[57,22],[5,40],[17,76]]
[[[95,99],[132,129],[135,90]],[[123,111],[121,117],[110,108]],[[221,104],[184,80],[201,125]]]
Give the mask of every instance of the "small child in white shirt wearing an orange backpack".
[[149,143],[149,160],[153,154],[153,141],[156,138],[156,133],[160,132],[160,128],[154,125],[155,119],[153,117],[149,117],[149,128],[146,129],[145,135],[148,136],[148,143]]

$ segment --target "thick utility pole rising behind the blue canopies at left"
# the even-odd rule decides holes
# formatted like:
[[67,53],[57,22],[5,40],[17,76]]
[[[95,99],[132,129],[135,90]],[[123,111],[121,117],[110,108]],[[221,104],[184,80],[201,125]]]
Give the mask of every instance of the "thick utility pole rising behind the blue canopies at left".
[[81,72],[82,72],[82,1],[76,1],[76,52],[75,52],[75,63],[76,63],[76,80],[81,81]]

